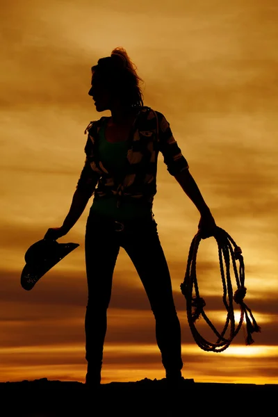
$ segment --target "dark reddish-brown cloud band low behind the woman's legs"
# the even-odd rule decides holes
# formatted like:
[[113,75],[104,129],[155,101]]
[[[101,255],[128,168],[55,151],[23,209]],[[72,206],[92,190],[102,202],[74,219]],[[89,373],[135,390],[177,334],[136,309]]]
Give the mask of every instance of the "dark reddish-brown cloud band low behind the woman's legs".
[[[38,334],[40,343],[74,343],[83,338],[83,320],[87,304],[85,274],[74,273],[49,274],[42,278],[32,291],[26,292],[20,287],[19,276],[15,273],[1,272],[3,291],[1,293],[1,327],[3,345],[36,345]],[[224,327],[225,311],[222,297],[204,296],[205,311],[218,331]],[[256,334],[257,343],[277,343],[277,302],[272,297],[247,299],[249,306],[262,333]],[[181,320],[183,343],[188,343],[190,335],[186,318],[186,300],[180,292],[174,292],[174,301]],[[234,306],[236,311],[238,308]],[[213,311],[213,315],[211,314]],[[268,315],[268,320],[261,323],[258,316]],[[110,322],[107,340],[112,343],[155,343],[154,316],[142,286],[133,288],[127,282],[123,284],[115,277],[111,304],[108,309]],[[197,322],[197,328],[204,337],[215,340],[203,319]],[[240,341],[245,343],[243,334]]]

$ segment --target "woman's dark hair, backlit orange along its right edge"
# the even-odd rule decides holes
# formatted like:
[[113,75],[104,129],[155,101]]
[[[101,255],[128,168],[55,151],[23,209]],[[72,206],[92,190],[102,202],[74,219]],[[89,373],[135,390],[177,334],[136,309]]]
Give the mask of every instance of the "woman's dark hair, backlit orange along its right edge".
[[126,50],[117,47],[111,56],[100,58],[92,67],[92,80],[95,78],[104,83],[113,97],[120,99],[125,106],[144,106],[140,83],[144,81],[138,76],[136,65],[133,64]]

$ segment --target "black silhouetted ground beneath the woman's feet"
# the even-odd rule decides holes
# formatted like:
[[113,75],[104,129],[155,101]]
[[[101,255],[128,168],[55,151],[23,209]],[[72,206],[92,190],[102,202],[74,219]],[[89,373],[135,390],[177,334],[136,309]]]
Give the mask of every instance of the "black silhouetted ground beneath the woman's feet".
[[[2,417],[63,416],[268,416],[277,415],[277,384],[196,383],[179,389],[164,379],[101,384],[96,391],[81,382],[0,383]],[[2,410],[2,412],[1,412]]]

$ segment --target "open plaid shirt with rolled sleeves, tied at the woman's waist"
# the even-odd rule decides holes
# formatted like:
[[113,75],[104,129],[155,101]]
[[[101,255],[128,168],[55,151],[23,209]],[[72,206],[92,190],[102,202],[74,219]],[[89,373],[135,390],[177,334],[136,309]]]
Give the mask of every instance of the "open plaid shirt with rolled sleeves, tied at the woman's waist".
[[181,154],[177,141],[172,136],[170,124],[162,113],[142,106],[138,111],[129,137],[124,174],[106,170],[98,154],[98,133],[105,116],[90,122],[85,145],[85,165],[76,189],[95,198],[115,195],[120,204],[124,199],[144,199],[152,204],[156,194],[158,152],[171,175],[188,169],[186,158]]

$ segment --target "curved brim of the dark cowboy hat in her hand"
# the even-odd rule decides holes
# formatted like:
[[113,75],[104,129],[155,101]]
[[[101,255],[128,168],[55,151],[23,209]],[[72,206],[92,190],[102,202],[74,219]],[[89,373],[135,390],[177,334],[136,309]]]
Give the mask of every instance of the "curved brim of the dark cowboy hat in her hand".
[[41,263],[26,263],[20,278],[22,288],[30,291],[44,274],[76,249],[76,247],[79,247],[79,243],[59,243],[58,251],[51,258],[45,259]]

